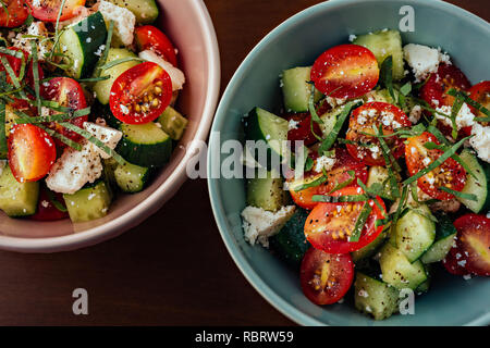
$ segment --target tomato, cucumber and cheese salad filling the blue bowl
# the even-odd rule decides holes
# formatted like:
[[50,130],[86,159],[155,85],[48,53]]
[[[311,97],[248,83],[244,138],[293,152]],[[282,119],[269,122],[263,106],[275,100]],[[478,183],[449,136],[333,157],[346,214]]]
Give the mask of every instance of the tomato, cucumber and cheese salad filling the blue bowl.
[[268,151],[246,149],[265,175],[247,179],[242,221],[310,301],[347,295],[383,320],[438,268],[490,275],[490,80],[471,85],[448,53],[397,30],[348,40],[283,71],[283,104],[243,119]]

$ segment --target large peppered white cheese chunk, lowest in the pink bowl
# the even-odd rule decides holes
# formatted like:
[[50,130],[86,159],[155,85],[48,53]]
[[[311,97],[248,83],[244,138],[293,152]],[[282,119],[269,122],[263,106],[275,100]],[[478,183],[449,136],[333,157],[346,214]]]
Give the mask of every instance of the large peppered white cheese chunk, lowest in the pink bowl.
[[64,149],[49,171],[46,185],[56,192],[74,194],[85,184],[94,183],[101,175],[100,156],[94,150],[91,144],[85,140],[81,151],[71,147]]

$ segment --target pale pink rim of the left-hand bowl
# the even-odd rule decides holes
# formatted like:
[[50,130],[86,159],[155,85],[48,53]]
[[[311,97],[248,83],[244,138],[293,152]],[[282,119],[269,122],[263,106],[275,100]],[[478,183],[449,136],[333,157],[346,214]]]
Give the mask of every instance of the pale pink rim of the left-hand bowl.
[[218,38],[211,16],[209,15],[208,9],[203,0],[191,0],[191,3],[194,7],[194,11],[200,13],[200,15],[198,15],[198,23],[199,27],[204,30],[206,54],[209,58],[209,78],[206,86],[208,94],[206,96],[201,119],[199,120],[199,125],[196,129],[194,138],[188,142],[182,161],[151,195],[145,198],[132,210],[114,220],[84,232],[58,237],[23,238],[0,235],[1,250],[20,252],[57,252],[88,247],[107,240],[136,226],[149,215],[155,213],[176,192],[182,184],[184,184],[187,178],[186,164],[198,150],[199,141],[194,140],[206,141],[206,138],[208,137],[211,122],[215,116],[216,105],[218,103],[221,83],[221,61]]

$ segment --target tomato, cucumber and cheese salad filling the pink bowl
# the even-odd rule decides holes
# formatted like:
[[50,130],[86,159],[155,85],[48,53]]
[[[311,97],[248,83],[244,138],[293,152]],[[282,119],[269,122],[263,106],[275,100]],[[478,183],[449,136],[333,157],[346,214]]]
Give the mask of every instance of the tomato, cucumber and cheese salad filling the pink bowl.
[[185,76],[155,0],[1,0],[0,209],[108,214],[170,159]]

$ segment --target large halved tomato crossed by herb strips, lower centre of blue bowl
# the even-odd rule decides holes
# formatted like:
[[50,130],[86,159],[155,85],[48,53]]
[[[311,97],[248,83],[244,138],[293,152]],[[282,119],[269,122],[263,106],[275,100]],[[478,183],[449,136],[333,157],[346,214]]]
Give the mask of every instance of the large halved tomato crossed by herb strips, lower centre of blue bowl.
[[[357,196],[363,194],[360,187],[346,187],[332,194],[332,196]],[[371,213],[366,220],[358,241],[348,241],[357,219],[360,215],[365,201],[318,203],[309,213],[305,223],[306,239],[317,249],[330,253],[346,253],[358,250],[378,237],[383,226],[376,227],[376,221],[384,219],[384,202],[377,197],[383,208],[382,211],[373,200],[367,203]]]

